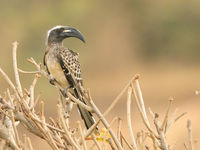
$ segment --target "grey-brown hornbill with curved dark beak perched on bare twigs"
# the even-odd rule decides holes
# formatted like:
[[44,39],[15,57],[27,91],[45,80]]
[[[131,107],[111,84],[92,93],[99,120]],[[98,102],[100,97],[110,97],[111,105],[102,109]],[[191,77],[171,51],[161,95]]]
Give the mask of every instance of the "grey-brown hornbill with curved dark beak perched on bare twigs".
[[[81,95],[83,80],[81,78],[78,53],[63,47],[63,40],[69,37],[75,37],[85,42],[80,31],[72,27],[55,26],[48,31],[44,65],[52,78],[50,83],[54,84],[54,82],[57,82],[65,89],[61,92],[63,96],[66,91],[69,91],[86,104],[84,96]],[[77,106],[87,129],[90,128],[95,122],[92,114],[83,107]]]

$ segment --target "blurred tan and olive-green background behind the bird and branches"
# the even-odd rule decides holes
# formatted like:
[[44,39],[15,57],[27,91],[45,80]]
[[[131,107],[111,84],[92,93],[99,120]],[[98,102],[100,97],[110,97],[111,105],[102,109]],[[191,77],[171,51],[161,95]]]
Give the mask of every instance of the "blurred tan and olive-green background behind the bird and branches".
[[[102,112],[139,73],[147,108],[164,114],[168,97],[172,96],[172,110],[178,107],[178,114],[188,112],[172,127],[169,143],[174,149],[183,149],[186,122],[191,119],[195,147],[200,147],[200,96],[195,94],[200,89],[200,1],[1,0],[0,20],[0,67],[12,79],[13,41],[20,43],[19,67],[31,71],[35,68],[26,59],[43,62],[46,32],[55,25],[73,26],[83,33],[86,44],[74,38],[64,44],[80,54],[85,87],[90,88]],[[20,75],[28,88],[33,76]],[[3,94],[8,85],[2,76],[0,85]],[[45,101],[46,116],[56,117],[56,89],[41,78],[36,93],[41,93]],[[77,114],[74,108],[72,124],[80,120]],[[126,96],[107,119],[111,121],[115,116],[122,118],[126,133]],[[134,101],[132,122],[135,134],[144,128]],[[49,148],[44,141],[29,136],[35,149]]]

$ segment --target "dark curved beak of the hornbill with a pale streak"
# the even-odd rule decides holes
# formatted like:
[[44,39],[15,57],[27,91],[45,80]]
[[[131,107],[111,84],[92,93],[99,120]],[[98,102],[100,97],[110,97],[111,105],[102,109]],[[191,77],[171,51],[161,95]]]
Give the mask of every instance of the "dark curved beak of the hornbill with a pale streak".
[[81,32],[72,27],[66,27],[65,30],[63,30],[63,32],[61,33],[61,36],[63,36],[64,38],[76,37],[85,43],[85,38],[81,34]]

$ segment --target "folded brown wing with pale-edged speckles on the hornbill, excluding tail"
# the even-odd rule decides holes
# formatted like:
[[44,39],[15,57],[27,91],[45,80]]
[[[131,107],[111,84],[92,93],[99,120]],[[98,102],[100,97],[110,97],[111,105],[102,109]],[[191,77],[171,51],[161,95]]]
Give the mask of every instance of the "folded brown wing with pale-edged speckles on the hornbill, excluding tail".
[[59,50],[59,57],[60,65],[70,85],[73,87],[74,84],[83,86],[78,53],[67,48],[62,48]]

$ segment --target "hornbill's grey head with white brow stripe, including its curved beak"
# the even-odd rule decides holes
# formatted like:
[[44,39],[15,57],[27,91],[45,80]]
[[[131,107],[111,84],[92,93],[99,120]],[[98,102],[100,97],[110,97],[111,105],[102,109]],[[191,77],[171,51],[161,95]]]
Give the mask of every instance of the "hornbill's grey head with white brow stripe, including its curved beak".
[[55,26],[47,32],[47,44],[62,43],[65,38],[69,37],[78,38],[85,43],[85,39],[79,30],[68,26]]

